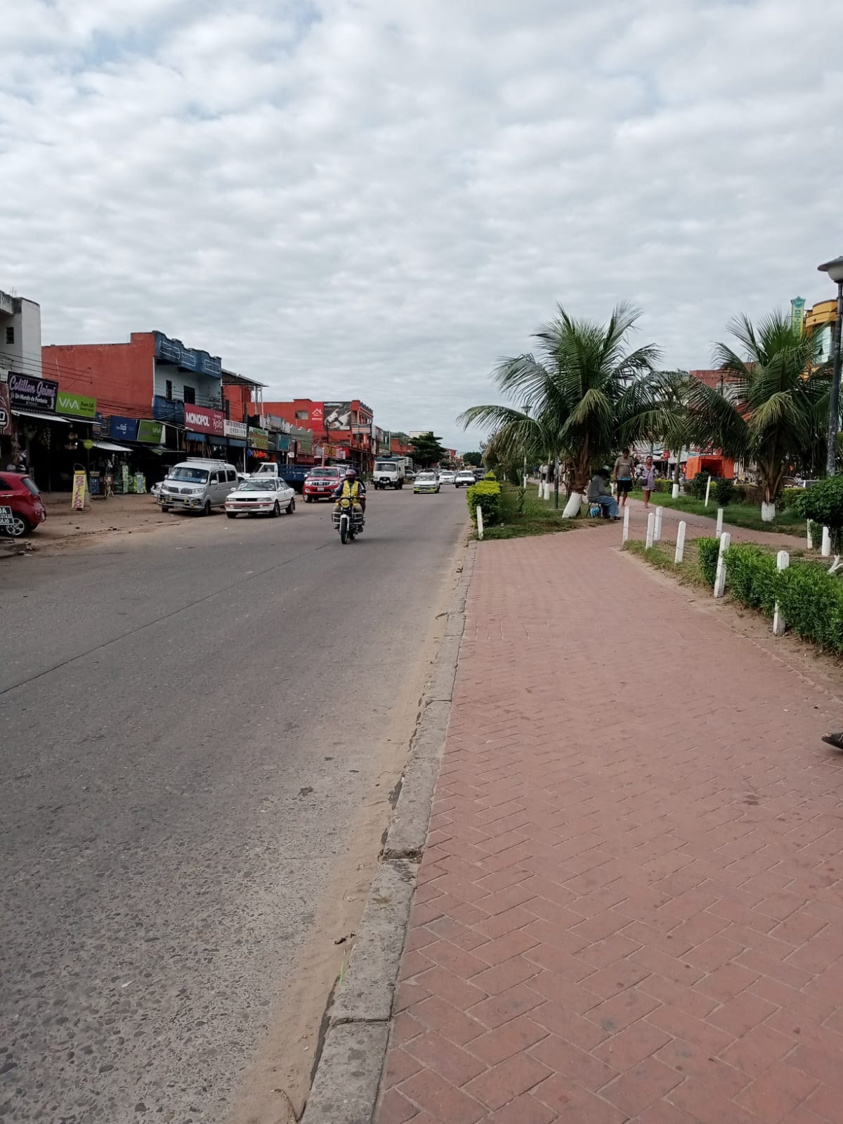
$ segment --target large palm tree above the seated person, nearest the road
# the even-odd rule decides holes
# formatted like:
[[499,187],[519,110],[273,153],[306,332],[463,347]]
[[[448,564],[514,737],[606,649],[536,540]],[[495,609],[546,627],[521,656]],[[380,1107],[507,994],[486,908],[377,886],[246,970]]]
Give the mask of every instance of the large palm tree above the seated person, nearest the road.
[[[506,427],[505,442],[542,448],[547,463],[560,456],[569,463],[570,498],[565,516],[580,513],[582,493],[591,469],[608,460],[620,443],[620,434],[636,408],[635,386],[652,370],[658,351],[647,344],[626,351],[627,337],[640,317],[627,302],[617,305],[608,324],[575,319],[560,305],[556,316],[535,333],[538,355],[502,360],[493,381],[520,408],[475,406],[461,415],[469,425],[486,423]],[[559,507],[558,473],[554,504]]]

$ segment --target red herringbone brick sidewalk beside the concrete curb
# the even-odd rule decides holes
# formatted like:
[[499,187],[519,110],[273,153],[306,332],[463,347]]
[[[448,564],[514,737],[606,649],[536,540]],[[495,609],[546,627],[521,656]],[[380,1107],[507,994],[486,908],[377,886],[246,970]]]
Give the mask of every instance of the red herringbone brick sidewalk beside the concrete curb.
[[378,1124],[843,1122],[843,706],[615,531],[478,551]]

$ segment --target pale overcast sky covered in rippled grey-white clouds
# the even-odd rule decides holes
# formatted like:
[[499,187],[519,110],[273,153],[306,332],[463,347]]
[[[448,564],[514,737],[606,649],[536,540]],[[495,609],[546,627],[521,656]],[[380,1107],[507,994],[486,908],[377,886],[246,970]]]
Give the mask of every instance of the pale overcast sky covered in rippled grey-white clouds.
[[0,289],[45,343],[158,328],[477,445],[562,302],[707,366],[833,296],[843,3],[13,0]]

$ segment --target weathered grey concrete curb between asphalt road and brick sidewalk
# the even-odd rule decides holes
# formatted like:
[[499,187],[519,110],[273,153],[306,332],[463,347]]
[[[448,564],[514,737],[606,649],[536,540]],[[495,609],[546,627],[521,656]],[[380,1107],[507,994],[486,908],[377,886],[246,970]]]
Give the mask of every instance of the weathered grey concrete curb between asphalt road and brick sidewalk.
[[347,971],[326,1015],[325,1045],[302,1124],[371,1124],[374,1116],[416,873],[445,749],[475,551],[473,543],[465,551],[382,861]]

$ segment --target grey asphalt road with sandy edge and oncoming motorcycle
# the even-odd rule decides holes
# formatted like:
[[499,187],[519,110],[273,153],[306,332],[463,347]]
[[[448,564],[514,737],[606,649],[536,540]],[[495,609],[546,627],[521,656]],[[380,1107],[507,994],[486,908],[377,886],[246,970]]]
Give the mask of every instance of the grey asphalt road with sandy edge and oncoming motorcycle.
[[0,562],[3,1124],[232,1113],[388,813],[466,525],[450,488],[346,546],[300,500],[173,518]]

